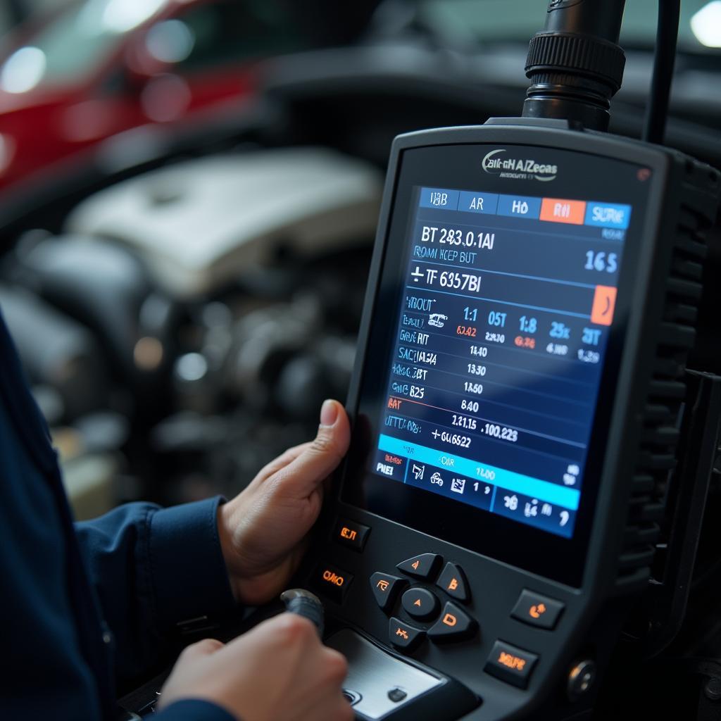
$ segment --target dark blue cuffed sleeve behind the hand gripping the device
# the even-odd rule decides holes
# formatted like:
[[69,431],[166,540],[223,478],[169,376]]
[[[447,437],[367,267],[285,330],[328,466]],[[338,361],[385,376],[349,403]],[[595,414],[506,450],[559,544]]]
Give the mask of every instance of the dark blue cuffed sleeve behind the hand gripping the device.
[[76,523],[90,583],[115,641],[118,678],[142,673],[176,624],[235,607],[218,538],[221,498],[129,503]]

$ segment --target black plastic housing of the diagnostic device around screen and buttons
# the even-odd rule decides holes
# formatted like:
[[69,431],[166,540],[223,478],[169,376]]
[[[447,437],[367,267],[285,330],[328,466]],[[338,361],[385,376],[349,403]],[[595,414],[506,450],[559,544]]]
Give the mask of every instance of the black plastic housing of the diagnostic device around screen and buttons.
[[[684,369],[694,344],[696,305],[702,289],[704,229],[715,218],[720,174],[677,151],[571,129],[562,120],[493,119],[482,126],[440,128],[396,138],[348,397],[352,422],[371,350],[371,328],[376,314],[387,312],[377,307],[376,301],[402,157],[417,148],[468,143],[487,144],[489,149],[518,144],[576,151],[637,163],[652,171],[642,233],[633,239],[638,247],[631,311],[582,580],[574,588],[346,503],[342,487],[349,469],[344,466],[317,524],[298,581],[322,594],[322,584],[319,588],[317,583],[318,562],[340,569],[347,588],[335,598],[324,596],[327,616],[335,627],[358,629],[392,650],[389,614],[379,608],[369,583],[373,572],[402,575],[397,563],[423,553],[439,554],[444,563],[460,565],[472,599],[466,611],[477,620],[479,632],[454,645],[425,641],[408,657],[457,679],[477,695],[479,705],[462,717],[466,721],[551,721],[572,717],[593,704],[598,682],[571,700],[567,692],[569,674],[580,660],[592,660],[603,670],[634,595],[645,587],[650,575],[658,521],[665,510],[668,479],[676,463],[678,424],[686,399]],[[362,550],[335,542],[339,519],[371,529]],[[563,559],[557,561],[562,563]],[[418,583],[408,580],[412,585]],[[432,578],[420,585],[430,589],[433,582]],[[526,588],[565,604],[553,630],[532,627],[510,616]],[[406,618],[399,611],[398,601],[391,615]],[[497,639],[539,656],[526,689],[484,671]]]

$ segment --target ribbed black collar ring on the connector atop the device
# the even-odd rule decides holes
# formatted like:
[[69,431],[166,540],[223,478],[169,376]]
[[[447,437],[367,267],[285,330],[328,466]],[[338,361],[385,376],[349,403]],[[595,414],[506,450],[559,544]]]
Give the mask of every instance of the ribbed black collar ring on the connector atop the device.
[[526,58],[526,76],[562,73],[603,83],[611,95],[621,87],[626,56],[614,43],[571,32],[539,32],[531,39]]

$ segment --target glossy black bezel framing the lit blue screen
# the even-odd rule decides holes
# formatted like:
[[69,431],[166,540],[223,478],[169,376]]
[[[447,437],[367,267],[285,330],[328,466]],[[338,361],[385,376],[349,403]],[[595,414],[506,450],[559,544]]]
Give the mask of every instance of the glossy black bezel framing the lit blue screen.
[[[389,176],[393,181],[393,195],[388,208],[386,208],[388,221],[379,228],[379,234],[382,233],[379,240],[382,241],[383,247],[380,251],[381,255],[378,257],[379,263],[381,260],[382,263],[378,268],[377,285],[373,284],[373,288],[371,288],[375,291],[371,302],[376,308],[397,309],[398,307],[399,297],[402,294],[401,286],[403,284],[399,283],[399,279],[400,274],[404,272],[403,260],[407,231],[415,217],[412,198],[416,186],[479,190],[487,193],[552,195],[553,197],[578,200],[592,198],[609,203],[629,203],[633,206],[631,225],[624,243],[624,255],[619,274],[616,317],[606,348],[599,402],[593,420],[593,440],[588,453],[575,533],[571,539],[554,536],[507,518],[484,513],[477,508],[448,500],[445,497],[407,487],[388,479],[381,479],[374,474],[366,472],[354,474],[352,472],[353,469],[362,469],[366,466],[366,454],[372,450],[372,448],[367,448],[368,433],[372,433],[371,427],[379,419],[380,406],[376,404],[373,412],[364,412],[372,404],[368,404],[367,398],[363,394],[363,388],[367,387],[369,379],[370,382],[375,379],[385,387],[383,381],[386,378],[389,353],[392,352],[393,345],[393,339],[389,336],[394,332],[394,324],[397,322],[395,312],[393,314],[376,313],[380,322],[376,318],[373,326],[366,328],[363,332],[363,335],[366,335],[365,348],[373,348],[377,351],[382,347],[384,352],[368,354],[364,348],[362,353],[362,373],[358,376],[358,383],[355,391],[351,392],[349,402],[349,410],[355,415],[355,429],[340,493],[341,500],[345,503],[397,521],[405,526],[416,528],[422,533],[457,544],[473,552],[552,578],[560,583],[578,587],[581,585],[583,577],[583,566],[593,526],[596,499],[603,474],[603,459],[606,454],[609,423],[614,411],[616,396],[615,381],[622,362],[624,338],[627,334],[629,313],[634,296],[634,282],[637,280],[634,268],[640,257],[648,199],[655,183],[642,184],[637,180],[632,180],[632,178],[635,179],[637,170],[644,167],[639,163],[630,163],[614,158],[610,154],[601,156],[574,149],[569,150],[583,155],[587,171],[581,183],[578,182],[578,178],[552,184],[541,184],[533,180],[504,180],[503,183],[500,183],[491,179],[489,182],[487,176],[480,172],[479,164],[479,159],[484,156],[489,147],[510,148],[510,146],[520,145],[521,143],[464,143],[459,141],[457,143],[441,143],[437,146],[425,144],[399,149],[397,166],[392,167],[392,176]],[[467,160],[460,164],[449,164],[447,162],[448,152],[453,146],[463,147],[464,151],[467,151],[465,152]],[[523,150],[535,150],[536,154],[541,154],[541,156],[549,152],[549,149],[544,149],[544,146],[535,143],[523,143],[523,149],[519,152],[523,153]],[[558,154],[557,149],[552,149],[552,151]],[[445,159],[446,162],[441,162],[442,159]],[[611,190],[609,190],[608,183],[601,180],[603,175],[601,172],[588,172],[588,163],[624,168],[624,182],[619,183],[614,180]],[[621,189],[622,185],[623,189]],[[390,212],[391,210],[393,212]],[[482,523],[479,523],[479,519],[482,519]],[[512,537],[512,542],[499,543],[498,539],[505,539],[508,536]]]

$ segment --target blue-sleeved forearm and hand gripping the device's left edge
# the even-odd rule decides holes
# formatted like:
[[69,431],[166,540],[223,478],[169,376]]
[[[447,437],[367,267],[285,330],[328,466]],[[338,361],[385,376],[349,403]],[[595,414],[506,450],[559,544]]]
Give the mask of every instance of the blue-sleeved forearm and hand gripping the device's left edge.
[[121,506],[76,524],[89,579],[115,636],[118,676],[158,658],[178,622],[257,606],[278,596],[298,566],[322,505],[324,481],[348,447],[337,401],[314,441],[286,451],[228,503]]

